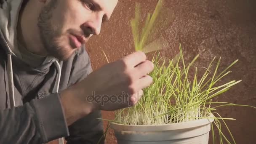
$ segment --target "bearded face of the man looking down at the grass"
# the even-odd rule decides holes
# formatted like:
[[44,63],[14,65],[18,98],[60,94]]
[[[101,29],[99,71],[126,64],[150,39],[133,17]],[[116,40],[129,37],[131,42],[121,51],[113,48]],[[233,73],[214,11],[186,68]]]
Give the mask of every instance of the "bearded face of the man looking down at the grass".
[[38,27],[51,56],[68,59],[92,35],[99,35],[118,0],[47,0]]

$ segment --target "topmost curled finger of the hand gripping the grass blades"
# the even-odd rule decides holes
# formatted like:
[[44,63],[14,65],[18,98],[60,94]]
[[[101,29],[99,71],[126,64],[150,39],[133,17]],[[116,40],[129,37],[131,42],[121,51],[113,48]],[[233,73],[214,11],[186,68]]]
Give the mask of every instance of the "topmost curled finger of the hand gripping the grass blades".
[[123,58],[126,65],[129,67],[135,67],[147,59],[145,53],[137,51]]

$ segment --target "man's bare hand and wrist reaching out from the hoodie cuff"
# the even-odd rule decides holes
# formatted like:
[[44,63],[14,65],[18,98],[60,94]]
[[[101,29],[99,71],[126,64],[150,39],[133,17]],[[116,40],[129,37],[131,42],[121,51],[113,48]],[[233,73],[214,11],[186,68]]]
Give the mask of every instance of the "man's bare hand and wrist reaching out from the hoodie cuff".
[[147,74],[153,67],[143,52],[135,52],[97,69],[62,92],[65,115],[77,111],[81,116],[94,110],[109,111],[136,104],[143,94],[142,89],[152,83],[152,77]]

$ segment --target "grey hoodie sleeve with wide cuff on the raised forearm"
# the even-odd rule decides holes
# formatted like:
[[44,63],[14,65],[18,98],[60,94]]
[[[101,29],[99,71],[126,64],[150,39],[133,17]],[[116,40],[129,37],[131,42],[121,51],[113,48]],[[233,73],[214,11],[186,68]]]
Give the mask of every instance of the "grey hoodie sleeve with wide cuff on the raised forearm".
[[41,144],[69,135],[59,95],[0,110],[0,144]]

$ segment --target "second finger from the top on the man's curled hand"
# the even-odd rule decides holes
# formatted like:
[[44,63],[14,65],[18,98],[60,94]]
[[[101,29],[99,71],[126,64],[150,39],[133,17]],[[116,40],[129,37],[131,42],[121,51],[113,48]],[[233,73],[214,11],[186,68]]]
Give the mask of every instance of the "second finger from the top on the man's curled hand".
[[149,72],[152,72],[153,69],[154,69],[154,64],[151,61],[148,61],[148,60],[144,61],[135,67],[134,77],[136,79],[139,79],[145,75],[148,75]]

